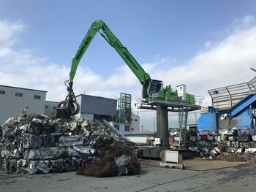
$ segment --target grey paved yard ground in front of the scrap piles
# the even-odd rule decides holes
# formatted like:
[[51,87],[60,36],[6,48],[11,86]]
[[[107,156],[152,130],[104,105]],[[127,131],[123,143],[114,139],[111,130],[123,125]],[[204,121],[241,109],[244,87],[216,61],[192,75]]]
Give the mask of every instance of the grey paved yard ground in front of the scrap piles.
[[58,174],[5,174],[0,172],[0,192],[5,191],[255,191],[256,164],[226,161],[184,161],[187,169],[167,169],[159,161],[143,160],[134,176],[83,177],[75,172]]

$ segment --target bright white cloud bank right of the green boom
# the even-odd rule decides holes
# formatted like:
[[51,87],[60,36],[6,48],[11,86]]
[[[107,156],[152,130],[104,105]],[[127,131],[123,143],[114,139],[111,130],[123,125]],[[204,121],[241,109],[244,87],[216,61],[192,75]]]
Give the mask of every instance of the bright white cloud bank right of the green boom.
[[[249,67],[256,66],[256,25],[254,17],[236,20],[236,28],[221,42],[197,53],[183,66],[162,69],[151,74],[172,85],[187,84],[187,90],[205,96],[210,105],[207,90],[225,85],[247,82],[255,76]],[[238,30],[239,28],[239,30]]]

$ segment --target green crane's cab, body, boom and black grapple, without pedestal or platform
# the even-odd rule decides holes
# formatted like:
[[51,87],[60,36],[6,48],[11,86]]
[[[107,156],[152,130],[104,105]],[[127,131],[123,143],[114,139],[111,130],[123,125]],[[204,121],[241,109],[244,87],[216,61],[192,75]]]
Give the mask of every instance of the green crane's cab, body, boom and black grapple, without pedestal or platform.
[[178,96],[177,91],[173,91],[170,85],[163,88],[161,80],[152,80],[148,73],[138,64],[133,58],[131,53],[127,50],[124,45],[116,38],[116,36],[110,31],[110,28],[102,21],[96,20],[92,23],[89,31],[81,42],[77,53],[72,58],[72,65],[69,72],[69,80],[65,81],[67,85],[67,97],[64,101],[60,101],[55,111],[56,118],[69,118],[72,115],[78,114],[80,106],[75,99],[75,93],[72,89],[75,72],[78,69],[83,54],[86,52],[94,36],[99,32],[101,36],[116,50],[116,52],[124,59],[124,62],[129,66],[129,69],[135,74],[143,86],[142,97],[144,101],[149,102],[151,99],[161,101],[172,101],[172,102],[185,102],[187,104],[195,104],[195,96],[186,93],[186,97]]

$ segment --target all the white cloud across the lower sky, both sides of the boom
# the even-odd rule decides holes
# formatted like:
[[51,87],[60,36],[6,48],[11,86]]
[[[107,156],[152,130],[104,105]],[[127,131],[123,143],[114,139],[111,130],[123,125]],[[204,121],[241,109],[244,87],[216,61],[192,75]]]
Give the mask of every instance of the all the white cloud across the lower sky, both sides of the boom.
[[[19,22],[0,20],[0,84],[48,91],[48,100],[59,101],[66,95],[64,80],[69,67],[53,64],[47,58],[35,56],[32,50],[16,50],[15,41],[26,26]],[[255,18],[248,15],[232,23],[233,30],[220,42],[209,39],[193,58],[182,66],[173,66],[173,59],[161,58],[143,64],[152,79],[163,80],[165,85],[184,83],[187,91],[206,96],[205,105],[210,105],[208,89],[239,82],[247,82],[254,73],[249,67],[256,66]],[[5,34],[7,33],[7,34]],[[11,42],[11,43],[9,43]],[[178,62],[178,61],[176,61]],[[79,66],[75,77],[75,93],[93,94],[116,98],[120,92],[131,93],[133,101],[141,96],[141,85],[128,66],[121,66],[104,79],[92,69]]]

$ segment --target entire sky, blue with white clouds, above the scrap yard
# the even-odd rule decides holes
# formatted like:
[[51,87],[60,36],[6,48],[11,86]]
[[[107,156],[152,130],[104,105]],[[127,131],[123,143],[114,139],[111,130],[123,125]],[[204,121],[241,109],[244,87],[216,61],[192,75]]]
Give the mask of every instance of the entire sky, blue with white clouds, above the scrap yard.
[[[75,51],[91,23],[104,20],[152,78],[174,88],[185,83],[190,93],[208,97],[208,89],[254,77],[255,15],[256,1],[0,0],[0,84],[63,99]],[[141,91],[99,35],[80,62],[74,87],[77,94],[111,98],[132,93],[134,101]]]

